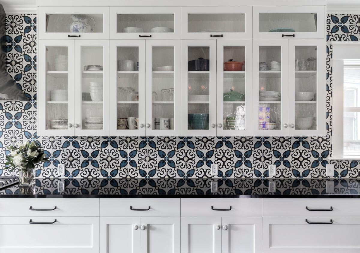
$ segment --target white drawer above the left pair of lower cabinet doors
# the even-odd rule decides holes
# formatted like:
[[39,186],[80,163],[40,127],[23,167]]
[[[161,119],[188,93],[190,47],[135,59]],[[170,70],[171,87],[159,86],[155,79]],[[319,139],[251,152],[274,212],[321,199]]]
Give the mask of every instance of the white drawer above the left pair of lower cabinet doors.
[[100,216],[180,217],[180,199],[100,199]]

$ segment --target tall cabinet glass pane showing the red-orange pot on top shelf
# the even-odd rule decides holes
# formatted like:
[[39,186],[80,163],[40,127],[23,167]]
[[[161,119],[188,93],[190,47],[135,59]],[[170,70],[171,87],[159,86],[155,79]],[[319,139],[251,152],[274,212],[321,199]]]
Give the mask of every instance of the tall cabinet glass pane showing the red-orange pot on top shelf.
[[245,129],[245,47],[224,46],[224,129]]

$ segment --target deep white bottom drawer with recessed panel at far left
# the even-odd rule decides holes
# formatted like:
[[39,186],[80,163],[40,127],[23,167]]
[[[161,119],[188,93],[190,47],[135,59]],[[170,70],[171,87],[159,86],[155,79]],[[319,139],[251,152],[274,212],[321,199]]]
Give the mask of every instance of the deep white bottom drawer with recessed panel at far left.
[[98,253],[99,217],[0,217],[0,252]]

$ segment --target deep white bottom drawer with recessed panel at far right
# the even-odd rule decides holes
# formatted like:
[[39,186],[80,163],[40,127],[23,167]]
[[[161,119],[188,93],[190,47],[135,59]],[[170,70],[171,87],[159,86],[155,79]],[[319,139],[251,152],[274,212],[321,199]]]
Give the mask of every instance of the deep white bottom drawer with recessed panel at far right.
[[264,217],[262,224],[264,253],[360,252],[360,218]]

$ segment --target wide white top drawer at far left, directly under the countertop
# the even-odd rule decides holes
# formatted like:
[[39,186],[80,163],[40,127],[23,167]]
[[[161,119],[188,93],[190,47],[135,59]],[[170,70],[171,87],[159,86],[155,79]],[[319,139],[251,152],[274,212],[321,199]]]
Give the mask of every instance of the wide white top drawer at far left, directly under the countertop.
[[99,199],[0,199],[0,217],[14,216],[99,216]]

